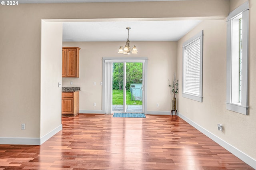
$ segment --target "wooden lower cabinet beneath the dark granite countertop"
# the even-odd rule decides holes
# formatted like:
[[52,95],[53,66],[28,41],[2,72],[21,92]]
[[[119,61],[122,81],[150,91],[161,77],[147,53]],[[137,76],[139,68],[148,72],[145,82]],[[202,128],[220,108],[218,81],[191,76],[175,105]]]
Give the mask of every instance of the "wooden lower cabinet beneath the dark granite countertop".
[[79,91],[62,92],[62,115],[76,116],[79,113]]

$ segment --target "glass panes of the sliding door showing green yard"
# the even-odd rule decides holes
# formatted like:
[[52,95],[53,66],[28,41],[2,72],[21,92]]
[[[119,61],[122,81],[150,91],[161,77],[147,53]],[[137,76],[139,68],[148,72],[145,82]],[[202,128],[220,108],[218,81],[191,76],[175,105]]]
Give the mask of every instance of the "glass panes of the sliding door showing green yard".
[[112,64],[112,112],[144,113],[144,63]]

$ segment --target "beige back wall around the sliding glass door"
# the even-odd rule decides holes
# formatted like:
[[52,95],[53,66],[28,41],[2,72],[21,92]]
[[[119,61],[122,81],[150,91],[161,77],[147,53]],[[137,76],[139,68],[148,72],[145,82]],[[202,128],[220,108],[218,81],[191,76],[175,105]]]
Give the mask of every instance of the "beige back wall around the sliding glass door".
[[[102,110],[102,57],[122,57],[118,48],[124,42],[63,42],[63,46],[80,47],[79,78],[62,78],[64,87],[81,87],[80,110]],[[147,111],[170,111],[171,94],[168,79],[172,81],[177,63],[177,42],[131,42],[138,54],[129,57],[148,57]],[[100,49],[100,50],[98,50]],[[168,50],[166,50],[168,49]],[[73,85],[70,85],[73,81]],[[94,85],[96,81],[96,85]],[[96,107],[93,106],[96,103]],[[159,103],[159,107],[156,107]]]

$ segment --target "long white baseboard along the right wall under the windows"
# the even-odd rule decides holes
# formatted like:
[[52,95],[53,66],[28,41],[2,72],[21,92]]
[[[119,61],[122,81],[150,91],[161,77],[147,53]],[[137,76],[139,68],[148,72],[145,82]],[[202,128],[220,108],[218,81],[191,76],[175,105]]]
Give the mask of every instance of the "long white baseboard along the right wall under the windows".
[[178,112],[178,116],[181,119],[183,119],[184,121],[186,121],[187,123],[189,123],[192,127],[196,128],[197,130],[199,130],[200,132],[202,132],[203,134],[205,134],[206,136],[208,136],[209,138],[214,140],[214,142],[218,143],[220,146],[222,146],[223,148],[225,148],[226,150],[228,150],[229,152],[234,154],[240,160],[244,161],[246,164],[248,164],[248,165],[252,166],[252,168],[256,169],[256,160],[255,159],[253,159],[252,157],[243,153],[242,151],[238,150],[237,148],[230,145],[226,141],[222,140],[218,136],[212,134],[211,132],[209,132],[205,128],[201,127],[200,125],[194,123],[193,121],[191,121],[190,119],[188,119],[187,117],[185,117],[184,115],[182,115],[179,112]]

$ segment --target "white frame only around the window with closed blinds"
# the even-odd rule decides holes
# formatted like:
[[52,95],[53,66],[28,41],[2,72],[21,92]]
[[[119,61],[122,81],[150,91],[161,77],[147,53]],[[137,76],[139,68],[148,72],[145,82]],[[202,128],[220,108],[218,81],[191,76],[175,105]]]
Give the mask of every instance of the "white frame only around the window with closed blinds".
[[[188,99],[192,99],[195,101],[199,101],[202,102],[202,65],[203,65],[203,30],[200,31],[198,34],[196,34],[195,36],[193,36],[192,38],[190,38],[189,40],[187,40],[186,42],[183,43],[183,81],[182,81],[182,97],[186,97]],[[184,85],[185,85],[185,50],[186,47],[194,42],[196,42],[197,40],[200,40],[200,82],[199,82],[199,95],[194,95],[194,94],[190,94],[190,93],[186,93],[185,89],[184,89]]]

